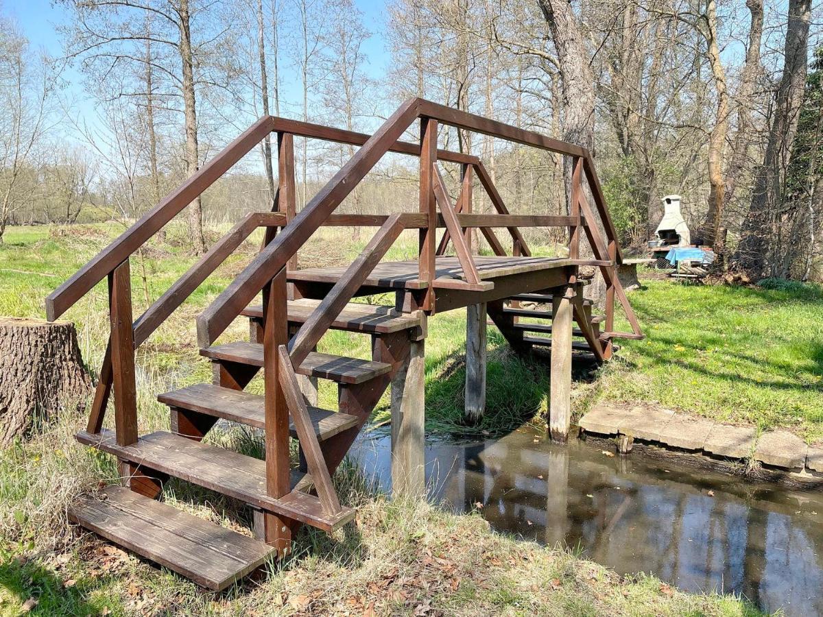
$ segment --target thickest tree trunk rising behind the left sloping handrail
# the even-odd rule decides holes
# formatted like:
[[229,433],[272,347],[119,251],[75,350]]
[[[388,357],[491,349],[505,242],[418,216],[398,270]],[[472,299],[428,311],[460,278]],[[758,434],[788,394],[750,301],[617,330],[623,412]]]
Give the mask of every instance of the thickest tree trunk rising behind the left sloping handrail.
[[[194,95],[194,61],[192,34],[189,28],[188,0],[180,0],[180,61],[183,64],[183,102],[186,122],[186,172],[192,176],[200,166],[198,152],[198,114]],[[188,205],[188,225],[192,233],[195,251],[206,253],[203,236],[202,200],[198,196]]]

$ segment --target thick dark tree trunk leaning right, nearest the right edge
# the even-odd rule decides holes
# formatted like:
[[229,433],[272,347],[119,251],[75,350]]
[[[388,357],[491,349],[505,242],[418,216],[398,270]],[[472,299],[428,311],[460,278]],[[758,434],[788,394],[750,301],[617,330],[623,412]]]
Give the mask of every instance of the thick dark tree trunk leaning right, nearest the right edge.
[[770,228],[779,207],[806,86],[810,20],[811,0],[789,0],[783,77],[774,100],[774,116],[763,165],[756,175],[751,206],[735,256],[737,267],[752,278],[760,278],[770,270],[767,262],[771,248]]

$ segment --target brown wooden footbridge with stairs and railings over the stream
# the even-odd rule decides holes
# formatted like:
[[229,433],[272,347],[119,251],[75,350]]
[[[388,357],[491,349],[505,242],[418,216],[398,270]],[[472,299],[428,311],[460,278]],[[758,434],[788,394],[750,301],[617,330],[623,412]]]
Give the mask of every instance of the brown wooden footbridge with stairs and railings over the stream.
[[[509,214],[477,156],[437,148],[440,124],[570,156],[574,169],[570,216]],[[419,143],[398,141],[416,126]],[[277,133],[279,171],[273,211],[245,216],[135,320],[129,257],[272,132]],[[300,212],[295,212],[295,136],[361,146]],[[389,151],[419,157],[419,204],[410,212],[379,216],[335,214],[346,195]],[[461,191],[455,203],[440,174],[441,161],[461,166]],[[496,214],[472,212],[475,178]],[[593,204],[588,203],[587,193]],[[298,250],[323,225],[378,229],[348,266],[296,269]],[[568,257],[532,256],[520,228],[549,226],[569,228]],[[212,361],[212,383],[159,392],[159,400],[170,407],[171,430],[138,434],[135,350],[260,227],[265,228],[265,239],[258,255],[198,317],[198,343],[201,354]],[[418,259],[381,262],[408,229],[419,230]],[[444,233],[438,242],[439,229]],[[510,253],[495,229],[511,236]],[[472,254],[475,230],[486,238],[494,257]],[[591,245],[592,259],[579,258],[582,235]],[[449,244],[453,257],[446,255]],[[565,438],[573,350],[603,361],[610,357],[614,339],[641,336],[616,276],[621,259],[592,157],[579,146],[421,99],[402,104],[371,136],[285,118],[261,118],[46,301],[53,320],[98,282],[109,281],[109,345],[88,426],[77,439],[117,457],[125,486],[81,499],[69,515],[81,526],[205,587],[227,587],[265,559],[287,554],[300,525],[332,531],[351,521],[355,513],[337,499],[331,476],[389,386],[393,487],[421,494],[426,319],[455,308],[468,307],[467,411],[482,412],[486,319],[491,318],[518,353],[533,346],[551,347],[551,434]],[[579,294],[581,266],[598,267],[605,278],[602,316],[593,315],[591,305]],[[394,308],[352,302],[358,296],[387,291],[395,294]],[[523,308],[524,301],[536,302],[538,308]],[[633,332],[615,331],[616,302]],[[551,310],[540,308],[543,304]],[[219,343],[218,337],[239,315],[249,318],[250,340]],[[523,322],[522,318],[530,317],[541,322]],[[319,353],[318,342],[329,329],[370,336],[371,360]],[[244,392],[261,369],[263,396]],[[316,406],[311,384],[319,378],[338,384],[336,411]],[[109,430],[103,428],[103,421],[112,394],[114,430]],[[265,461],[204,443],[203,437],[220,418],[263,429]],[[300,445],[300,466],[294,468],[289,457],[291,438]],[[248,503],[254,512],[254,537],[156,501],[170,476]]]

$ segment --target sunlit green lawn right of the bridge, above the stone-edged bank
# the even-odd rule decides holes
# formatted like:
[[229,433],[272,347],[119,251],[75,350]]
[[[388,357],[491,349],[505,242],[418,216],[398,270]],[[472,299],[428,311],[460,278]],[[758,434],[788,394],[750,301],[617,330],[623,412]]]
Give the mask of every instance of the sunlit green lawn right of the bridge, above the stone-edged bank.
[[599,396],[823,438],[823,288],[644,281],[644,341],[622,341]]

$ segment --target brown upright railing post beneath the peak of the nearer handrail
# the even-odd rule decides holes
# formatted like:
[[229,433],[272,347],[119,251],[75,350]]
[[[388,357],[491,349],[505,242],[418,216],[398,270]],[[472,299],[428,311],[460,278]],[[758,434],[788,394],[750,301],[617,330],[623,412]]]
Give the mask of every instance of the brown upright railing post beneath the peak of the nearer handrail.
[[[421,281],[433,281],[437,252],[437,204],[432,168],[437,162],[437,120],[420,119],[420,145],[420,211],[429,216],[429,224],[420,230],[419,276]],[[430,312],[435,310],[435,289],[431,285],[425,291],[423,308]]]

